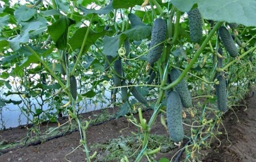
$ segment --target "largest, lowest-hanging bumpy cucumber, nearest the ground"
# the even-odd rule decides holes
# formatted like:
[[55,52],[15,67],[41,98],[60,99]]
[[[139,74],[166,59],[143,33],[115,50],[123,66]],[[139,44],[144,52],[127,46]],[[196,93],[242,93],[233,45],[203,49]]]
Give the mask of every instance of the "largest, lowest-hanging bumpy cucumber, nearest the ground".
[[167,125],[169,134],[176,143],[181,142],[184,137],[181,111],[180,95],[175,91],[171,91],[166,104]]

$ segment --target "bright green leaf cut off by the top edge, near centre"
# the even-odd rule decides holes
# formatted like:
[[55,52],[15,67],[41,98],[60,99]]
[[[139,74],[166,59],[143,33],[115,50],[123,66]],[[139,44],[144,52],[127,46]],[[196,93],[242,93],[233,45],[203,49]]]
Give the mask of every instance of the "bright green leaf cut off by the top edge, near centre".
[[144,0],[112,0],[113,1],[113,8],[130,8],[134,7],[135,5],[141,5]]

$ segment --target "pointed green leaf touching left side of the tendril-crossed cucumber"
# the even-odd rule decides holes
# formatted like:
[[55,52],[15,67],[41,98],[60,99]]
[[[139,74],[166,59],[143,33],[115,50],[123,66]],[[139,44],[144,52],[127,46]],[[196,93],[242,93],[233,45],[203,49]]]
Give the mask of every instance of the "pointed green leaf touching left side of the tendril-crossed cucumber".
[[123,32],[128,38],[136,41],[146,39],[151,34],[151,26],[135,26]]

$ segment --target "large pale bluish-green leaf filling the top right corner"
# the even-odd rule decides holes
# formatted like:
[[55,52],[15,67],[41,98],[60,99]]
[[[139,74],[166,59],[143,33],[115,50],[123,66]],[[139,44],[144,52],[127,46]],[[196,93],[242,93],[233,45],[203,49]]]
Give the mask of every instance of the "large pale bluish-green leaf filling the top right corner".
[[256,0],[172,0],[174,6],[188,12],[198,4],[205,19],[256,26]]

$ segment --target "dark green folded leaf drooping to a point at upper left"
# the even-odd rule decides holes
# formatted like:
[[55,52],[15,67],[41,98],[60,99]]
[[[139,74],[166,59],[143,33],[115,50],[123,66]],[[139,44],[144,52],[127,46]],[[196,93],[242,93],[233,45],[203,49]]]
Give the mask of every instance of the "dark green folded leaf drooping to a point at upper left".
[[66,48],[68,41],[68,27],[72,24],[75,24],[74,20],[66,16],[60,16],[56,22],[51,26],[48,26],[48,32],[54,43],[56,43],[58,49],[64,50]]

